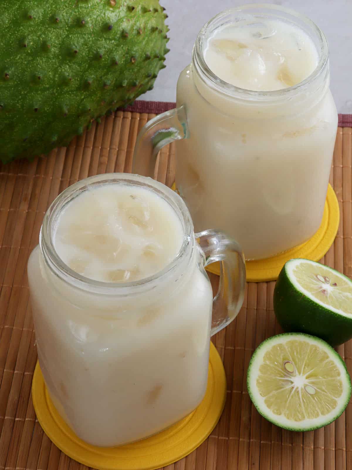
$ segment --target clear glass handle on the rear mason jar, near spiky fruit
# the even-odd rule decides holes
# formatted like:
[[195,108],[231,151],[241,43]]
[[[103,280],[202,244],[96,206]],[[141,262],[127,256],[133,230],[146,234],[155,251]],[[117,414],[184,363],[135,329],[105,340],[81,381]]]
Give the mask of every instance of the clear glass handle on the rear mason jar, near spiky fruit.
[[156,157],[161,147],[187,137],[188,126],[184,104],[155,116],[138,133],[133,153],[132,173],[153,178]]

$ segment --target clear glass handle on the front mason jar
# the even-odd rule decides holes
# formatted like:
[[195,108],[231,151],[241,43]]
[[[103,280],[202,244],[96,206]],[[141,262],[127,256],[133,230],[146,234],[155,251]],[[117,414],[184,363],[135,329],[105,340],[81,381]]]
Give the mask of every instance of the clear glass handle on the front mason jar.
[[222,232],[205,230],[195,236],[205,254],[204,266],[220,261],[219,290],[213,301],[213,336],[237,316],[243,304],[245,258],[239,244]]

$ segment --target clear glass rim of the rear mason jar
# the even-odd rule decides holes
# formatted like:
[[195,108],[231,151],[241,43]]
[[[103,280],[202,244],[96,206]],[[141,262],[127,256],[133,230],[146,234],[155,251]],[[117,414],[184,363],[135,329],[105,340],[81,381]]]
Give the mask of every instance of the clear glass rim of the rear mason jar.
[[[232,85],[222,80],[222,78],[219,78],[208,67],[204,58],[203,46],[204,46],[204,41],[208,39],[207,35],[209,31],[214,31],[214,29],[216,29],[217,24],[218,24],[217,27],[224,25],[225,24],[224,19],[226,17],[234,16],[235,14],[238,14],[239,12],[242,12],[245,10],[246,11],[248,10],[248,13],[250,13],[251,10],[253,11],[255,9],[262,10],[260,11],[260,13],[253,13],[253,16],[255,17],[258,17],[258,18],[265,17],[265,14],[268,15],[268,13],[277,12],[277,15],[275,16],[275,18],[284,19],[283,16],[280,16],[280,12],[285,13],[290,16],[293,16],[293,18],[297,18],[298,20],[302,21],[304,24],[306,24],[311,29],[313,29],[313,31],[316,33],[320,42],[320,49],[317,49],[317,53],[319,54],[318,64],[315,67],[314,71],[310,75],[308,75],[308,77],[306,77],[304,80],[299,82],[298,84],[287,87],[287,88],[282,88],[279,90],[272,90],[272,91],[250,90],[250,89],[245,89],[239,86]],[[214,29],[212,30],[211,28],[213,27]],[[203,79],[206,78],[208,81],[210,81],[210,83],[212,84],[212,86],[214,86],[216,91],[232,98],[257,99],[260,101],[270,101],[270,100],[275,100],[275,99],[291,98],[291,96],[296,95],[302,89],[306,88],[307,86],[311,86],[314,82],[316,82],[321,77],[323,72],[328,68],[329,48],[328,48],[328,41],[324,33],[307,16],[302,15],[291,8],[286,8],[286,7],[282,7],[279,5],[273,5],[271,3],[251,3],[248,5],[241,5],[238,7],[223,10],[222,12],[218,13],[213,18],[211,18],[198,33],[197,39],[193,47],[192,58],[193,58],[193,63],[197,71],[200,72],[199,75]]]

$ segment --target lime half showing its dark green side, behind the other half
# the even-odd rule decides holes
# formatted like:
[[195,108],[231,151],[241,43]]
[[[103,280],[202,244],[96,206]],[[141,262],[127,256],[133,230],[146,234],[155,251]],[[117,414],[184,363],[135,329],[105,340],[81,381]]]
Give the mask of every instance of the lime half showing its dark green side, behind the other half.
[[315,261],[290,259],[275,285],[274,311],[284,331],[341,345],[352,337],[352,281]]

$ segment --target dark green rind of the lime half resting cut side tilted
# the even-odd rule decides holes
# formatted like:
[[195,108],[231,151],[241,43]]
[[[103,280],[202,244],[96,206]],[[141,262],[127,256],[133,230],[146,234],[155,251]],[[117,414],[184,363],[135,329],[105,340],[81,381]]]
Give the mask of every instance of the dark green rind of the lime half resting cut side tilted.
[[[314,263],[302,258],[291,259],[285,263],[277,278],[274,290],[274,311],[280,326],[286,332],[301,332],[318,336],[331,346],[345,343],[352,338],[352,315],[341,315],[330,310],[328,306],[324,307],[314,302],[293,285],[288,268],[291,262],[300,259],[303,262]],[[335,269],[328,266],[324,268],[351,282],[347,276]]]

